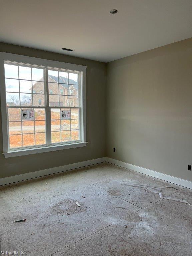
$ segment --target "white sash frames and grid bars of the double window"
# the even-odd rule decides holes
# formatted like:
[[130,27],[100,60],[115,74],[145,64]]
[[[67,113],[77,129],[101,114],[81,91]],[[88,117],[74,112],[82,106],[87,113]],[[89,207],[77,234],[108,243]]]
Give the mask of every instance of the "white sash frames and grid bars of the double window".
[[[40,68],[40,69],[43,69],[44,70],[44,81],[40,81],[40,82],[43,82],[44,83],[44,94],[43,93],[33,93],[33,90],[32,90],[32,93],[25,93],[25,94],[31,94],[32,95],[32,100],[33,100],[33,94],[40,94],[40,95],[44,95],[44,100],[45,100],[45,106],[25,106],[25,105],[20,105],[20,106],[7,106],[7,110],[9,109],[9,108],[19,108],[20,110],[23,108],[23,109],[31,109],[31,108],[43,108],[43,109],[45,109],[45,117],[47,117],[47,112],[48,112],[48,109],[50,110],[51,108],[62,108],[62,109],[78,109],[79,111],[79,129],[78,129],[78,131],[79,131],[79,140],[73,140],[73,141],[67,141],[67,142],[60,142],[60,143],[47,143],[47,144],[42,144],[42,145],[33,145],[33,146],[26,146],[26,147],[24,147],[23,146],[23,138],[22,138],[22,147],[16,147],[16,148],[10,148],[10,140],[9,140],[9,125],[7,125],[7,127],[8,127],[8,148],[9,148],[9,151],[14,151],[14,150],[19,150],[19,149],[30,149],[30,148],[38,148],[38,147],[42,147],[42,146],[45,146],[45,145],[48,145],[48,146],[50,146],[50,145],[65,145],[65,144],[69,144],[69,143],[76,143],[76,142],[80,142],[81,141],[81,130],[82,130],[82,126],[81,126],[81,104],[80,104],[80,102],[81,102],[81,99],[80,99],[80,97],[82,97],[82,95],[80,94],[80,87],[81,87],[81,74],[82,74],[82,72],[79,72],[79,71],[71,71],[71,70],[66,70],[66,69],[60,69],[60,68],[50,68],[50,67],[44,67],[44,66],[39,66],[39,65],[33,65],[33,64],[25,64],[25,63],[19,63],[19,62],[9,62],[9,61],[4,61],[4,64],[9,64],[9,65],[18,65],[18,69],[19,69],[19,66],[24,66],[24,67],[26,67],[26,66],[29,66],[30,68],[31,68],[31,77],[32,77],[32,67],[33,68]],[[70,107],[70,106],[48,106],[48,104],[47,104],[47,106],[46,106],[46,103],[49,103],[49,100],[48,100],[48,97],[49,97],[49,90],[48,90],[48,79],[46,79],[46,77],[47,77],[47,74],[48,74],[48,71],[47,71],[47,69],[49,69],[49,70],[57,70],[58,72],[59,72],[59,70],[61,70],[62,72],[66,72],[66,73],[68,73],[68,76],[69,76],[69,73],[74,73],[74,74],[77,74],[78,75],[78,95],[76,95],[77,97],[78,97],[78,107]],[[46,76],[45,76],[46,75]],[[19,70],[18,70],[18,79],[17,78],[9,78],[9,77],[6,77],[6,78],[8,78],[8,79],[15,79],[15,80],[26,80],[26,81],[31,81],[31,82],[39,82],[39,81],[37,81],[37,80],[28,80],[28,79],[20,79],[19,78]],[[69,77],[68,77],[68,79],[69,79]],[[69,81],[69,80],[68,80]],[[58,82],[58,86],[59,86],[59,84],[65,84],[65,83],[59,83]],[[70,85],[75,85],[75,84],[72,84],[72,83],[70,83]],[[33,86],[33,85],[32,85]],[[69,83],[68,83],[68,86],[69,86]],[[14,93],[14,92],[12,92],[12,93]],[[16,93],[18,93],[18,92],[16,92]],[[20,95],[20,84],[19,84],[19,95]],[[70,97],[70,95],[69,95],[69,90],[68,90],[68,95],[65,95],[65,94],[60,94],[60,90],[59,90],[59,94],[58,95],[62,95],[62,96],[68,96],[68,101],[70,101],[69,100],[69,97]],[[74,96],[74,95],[73,95]],[[20,99],[19,99],[20,100]],[[20,104],[21,104],[21,100],[20,100]],[[50,111],[49,111],[50,112]],[[49,116],[50,116],[50,113],[49,113]],[[8,121],[9,119],[8,119],[8,111],[7,111],[7,122],[9,122]],[[75,119],[73,119],[73,120],[75,120]],[[33,120],[34,121],[34,124],[35,124],[35,120]],[[43,120],[42,120],[43,121]],[[14,122],[14,121],[10,121],[10,122]],[[15,121],[15,122],[19,122],[19,121]],[[22,120],[21,120],[21,122],[22,122]],[[61,124],[61,120],[60,120],[60,124]],[[48,119],[46,118],[46,132],[37,132],[37,133],[35,133],[35,127],[34,127],[34,133],[32,133],[32,134],[34,134],[34,139],[35,139],[35,134],[38,134],[38,133],[45,133],[45,136],[46,136],[46,142],[47,142],[47,140],[48,140],[48,136],[47,136],[47,133],[48,133],[48,130],[47,130],[47,126],[51,126],[51,119],[50,119],[50,121],[48,122]],[[22,129],[22,125],[21,125],[21,129]],[[68,130],[69,131],[69,130]],[[71,130],[71,119],[70,119],[70,136],[71,136],[71,131],[75,131],[75,130]],[[61,131],[60,131],[61,132]],[[28,134],[31,134],[31,133],[28,133]],[[17,134],[13,134],[13,135],[17,135]],[[18,135],[20,135],[20,134],[18,134]],[[12,136],[12,135],[11,135]],[[23,133],[22,133],[22,136],[23,136]],[[50,136],[49,136],[49,139],[51,140],[51,134],[50,134]]]

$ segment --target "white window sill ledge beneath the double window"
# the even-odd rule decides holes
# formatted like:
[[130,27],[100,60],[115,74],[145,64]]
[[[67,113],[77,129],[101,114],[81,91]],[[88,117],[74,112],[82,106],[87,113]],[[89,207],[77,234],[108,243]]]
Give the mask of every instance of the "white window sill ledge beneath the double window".
[[87,142],[80,142],[80,143],[74,143],[74,144],[56,145],[56,146],[48,146],[48,147],[42,147],[42,148],[14,150],[14,151],[9,151],[3,154],[5,158],[14,157],[14,156],[25,156],[25,155],[50,152],[50,151],[56,151],[56,150],[62,150],[62,149],[85,147],[86,143]]

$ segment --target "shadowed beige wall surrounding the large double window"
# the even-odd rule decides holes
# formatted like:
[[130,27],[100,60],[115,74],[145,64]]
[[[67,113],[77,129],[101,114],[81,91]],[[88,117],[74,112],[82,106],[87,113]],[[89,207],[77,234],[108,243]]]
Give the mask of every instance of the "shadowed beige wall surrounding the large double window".
[[0,124],[0,178],[104,157],[106,155],[105,63],[5,43],[0,43],[0,52],[9,52],[87,66],[87,141],[89,142],[86,147],[82,148],[5,158],[2,155],[2,126]]

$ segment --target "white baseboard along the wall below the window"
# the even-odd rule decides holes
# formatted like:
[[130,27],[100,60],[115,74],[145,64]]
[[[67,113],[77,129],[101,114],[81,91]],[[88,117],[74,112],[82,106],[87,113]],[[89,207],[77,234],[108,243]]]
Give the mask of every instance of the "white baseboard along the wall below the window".
[[9,184],[9,183],[22,181],[22,180],[28,180],[28,179],[33,179],[33,178],[49,175],[49,174],[54,174],[54,173],[58,173],[58,172],[69,171],[72,169],[76,169],[76,168],[80,168],[80,167],[84,167],[84,166],[88,166],[88,165],[92,165],[92,164],[98,164],[98,163],[102,163],[102,162],[106,162],[106,157],[101,157],[101,158],[91,159],[91,160],[78,162],[78,163],[74,163],[74,164],[68,164],[68,165],[53,167],[53,168],[49,168],[49,169],[45,169],[45,170],[28,172],[28,173],[24,173],[24,174],[20,174],[20,175],[1,178],[0,186]]

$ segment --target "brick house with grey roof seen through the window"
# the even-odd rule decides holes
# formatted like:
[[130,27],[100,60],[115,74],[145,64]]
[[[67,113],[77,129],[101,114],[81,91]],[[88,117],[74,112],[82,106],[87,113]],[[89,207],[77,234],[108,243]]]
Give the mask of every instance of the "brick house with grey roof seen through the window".
[[[59,81],[58,81],[59,79]],[[78,106],[78,82],[62,76],[48,75],[49,81],[49,104],[50,106]],[[43,78],[36,82],[30,89],[33,91],[33,105],[44,106],[44,83]],[[60,100],[59,100],[59,96]],[[60,103],[60,104],[59,104]]]

